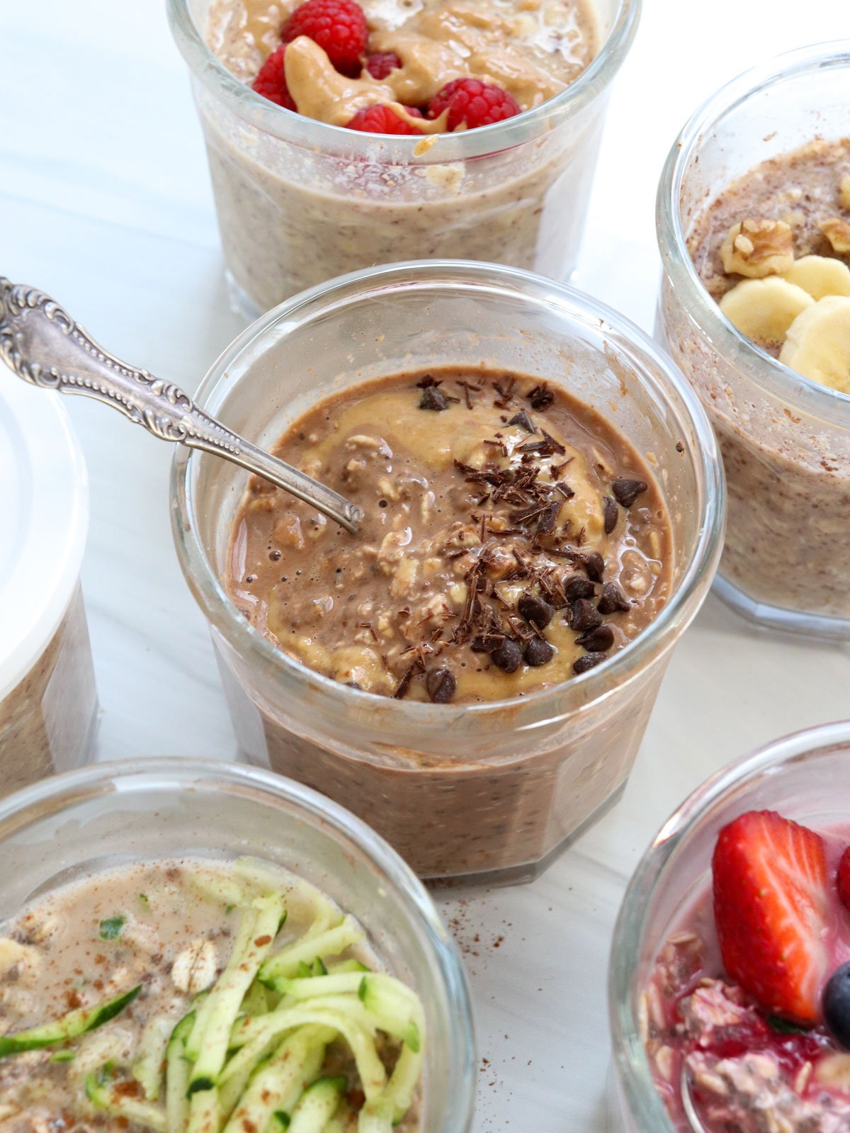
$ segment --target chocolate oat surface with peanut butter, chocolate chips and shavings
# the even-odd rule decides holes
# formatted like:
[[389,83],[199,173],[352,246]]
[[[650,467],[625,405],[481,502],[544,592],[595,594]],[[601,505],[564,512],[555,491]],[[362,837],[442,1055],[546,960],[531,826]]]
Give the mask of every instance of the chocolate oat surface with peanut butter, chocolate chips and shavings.
[[646,463],[555,386],[444,369],[367,383],[274,452],[365,511],[357,536],[253,479],[230,593],[272,641],[367,692],[481,701],[587,672],[666,600]]

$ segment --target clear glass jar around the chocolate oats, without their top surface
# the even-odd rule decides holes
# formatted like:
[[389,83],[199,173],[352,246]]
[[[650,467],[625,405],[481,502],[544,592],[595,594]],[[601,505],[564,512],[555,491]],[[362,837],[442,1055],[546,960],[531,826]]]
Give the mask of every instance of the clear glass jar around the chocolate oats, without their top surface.
[[351,275],[282,305],[221,356],[197,400],[271,446],[330,392],[482,359],[567,385],[656,465],[673,525],[671,598],[589,673],[475,705],[341,685],[275,648],[227,594],[245,474],[179,450],[172,519],[241,756],[343,802],[422,876],[525,879],[623,787],[671,649],[716,565],[722,476],[688,384],[637,327],[586,296],[513,269],[430,261]]

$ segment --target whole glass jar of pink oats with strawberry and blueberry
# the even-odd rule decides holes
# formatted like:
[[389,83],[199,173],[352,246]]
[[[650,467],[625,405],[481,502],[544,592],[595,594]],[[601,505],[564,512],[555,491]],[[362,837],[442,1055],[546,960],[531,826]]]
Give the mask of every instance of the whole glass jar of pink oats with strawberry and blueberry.
[[624,1133],[850,1128],[848,723],[732,764],[660,832],[611,957]]

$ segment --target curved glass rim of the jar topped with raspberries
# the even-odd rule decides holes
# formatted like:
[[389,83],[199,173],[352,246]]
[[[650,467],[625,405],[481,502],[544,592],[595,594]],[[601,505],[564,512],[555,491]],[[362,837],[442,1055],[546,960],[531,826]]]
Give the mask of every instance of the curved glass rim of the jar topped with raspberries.
[[[436,135],[440,145],[416,154],[420,137],[363,134],[331,126],[296,111],[278,107],[236,78],[210,49],[189,10],[189,0],[167,0],[168,18],[177,46],[194,77],[219,95],[244,121],[284,142],[320,148],[329,154],[347,154],[373,161],[416,161],[417,164],[462,161],[498,153],[538,136],[579,113],[611,83],[635,39],[643,0],[618,0],[611,31],[596,57],[563,91],[513,118],[475,130]],[[389,151],[389,154],[388,154]]]

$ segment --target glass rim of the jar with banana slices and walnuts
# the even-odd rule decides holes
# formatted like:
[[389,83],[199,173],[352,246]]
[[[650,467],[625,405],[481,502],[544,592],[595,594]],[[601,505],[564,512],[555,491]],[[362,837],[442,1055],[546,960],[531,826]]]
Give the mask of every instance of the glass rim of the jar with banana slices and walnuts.
[[714,134],[728,114],[771,87],[831,68],[847,68],[850,73],[850,40],[815,43],[776,56],[716,91],[694,112],[673,142],[658,182],[655,219],[664,273],[711,349],[766,393],[779,394],[815,418],[850,428],[850,394],[798,374],[751,342],[726,318],[690,257],[680,207],[685,177],[703,138]]

